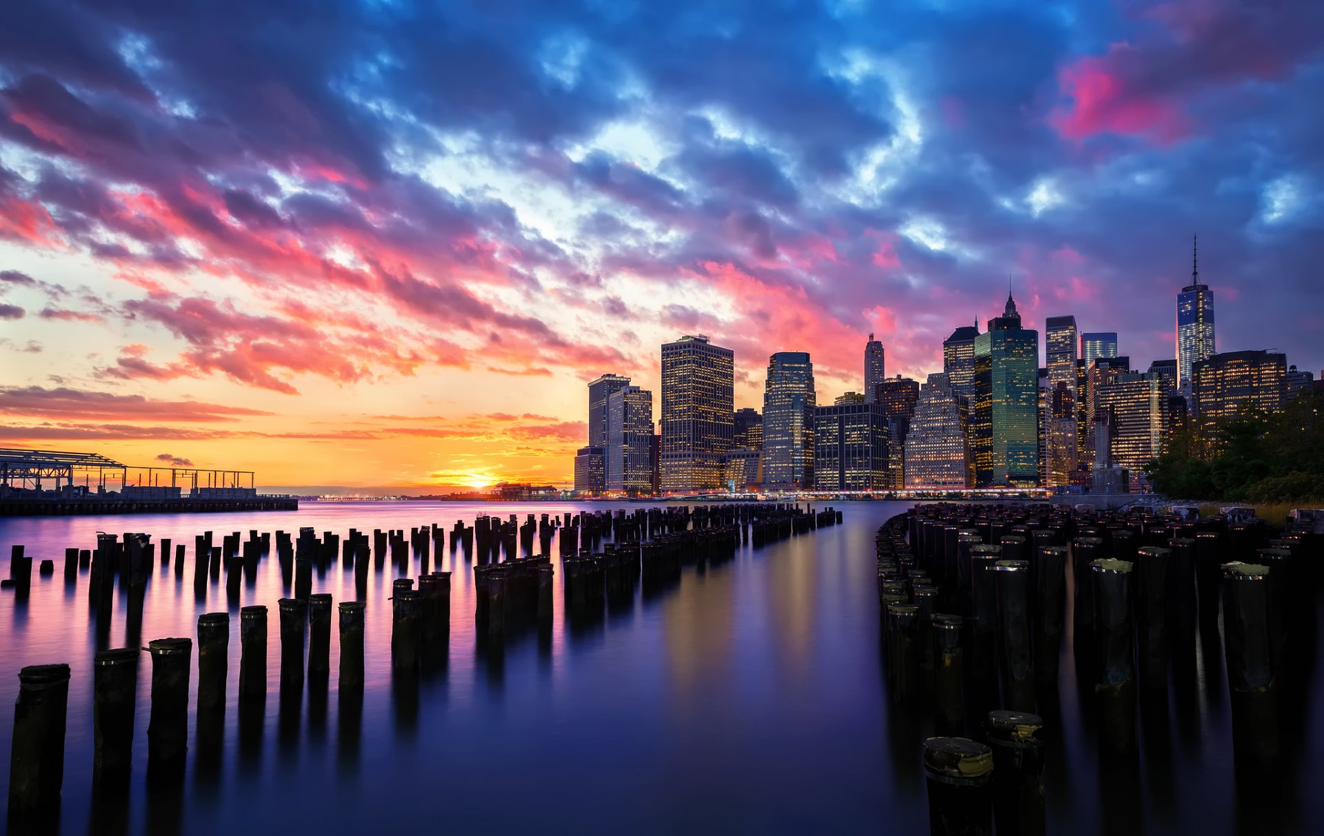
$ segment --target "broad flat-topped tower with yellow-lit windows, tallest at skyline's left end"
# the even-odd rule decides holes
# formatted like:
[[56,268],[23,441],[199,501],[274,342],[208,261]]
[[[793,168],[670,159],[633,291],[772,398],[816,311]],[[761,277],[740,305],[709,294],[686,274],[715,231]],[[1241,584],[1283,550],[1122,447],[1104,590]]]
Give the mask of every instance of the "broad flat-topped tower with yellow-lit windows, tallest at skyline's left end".
[[662,491],[708,491],[722,484],[731,450],[735,352],[686,335],[662,345]]

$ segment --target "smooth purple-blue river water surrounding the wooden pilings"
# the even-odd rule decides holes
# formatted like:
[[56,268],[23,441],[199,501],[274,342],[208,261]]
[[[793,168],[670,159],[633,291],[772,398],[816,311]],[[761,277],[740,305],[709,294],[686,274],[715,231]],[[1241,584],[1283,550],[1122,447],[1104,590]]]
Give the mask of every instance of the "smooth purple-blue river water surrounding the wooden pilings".
[[[564,513],[610,504],[354,503],[306,504],[298,512],[19,519],[0,521],[0,549],[21,542],[34,558],[30,601],[0,597],[0,702],[12,705],[23,665],[65,661],[73,668],[60,829],[89,832],[91,816],[91,656],[87,577],[66,590],[65,546],[93,548],[98,529],[140,530],[154,542],[188,546],[183,579],[158,566],[148,582],[140,643],[193,636],[197,615],[230,611],[224,761],[199,771],[191,698],[189,759],[183,798],[148,804],[144,787],[150,657],[142,656],[132,796],[109,832],[379,832],[383,825],[448,832],[663,833],[858,832],[914,833],[927,828],[919,766],[927,709],[892,709],[878,639],[874,532],[902,503],[834,503],[845,524],[752,549],[728,564],[683,571],[679,586],[610,611],[591,628],[556,615],[548,642],[536,632],[507,642],[500,663],[475,648],[473,573],[449,546],[451,632],[444,675],[420,683],[416,697],[392,683],[391,566],[368,579],[367,688],[357,735],[339,732],[338,649],[324,709],[307,694],[282,710],[275,602],[286,591],[271,558],[241,605],[270,607],[263,734],[240,743],[237,607],[224,582],[195,601],[193,534],[249,529],[319,536],[350,528],[404,528],[479,513]],[[617,507],[638,508],[634,504]],[[553,544],[553,553],[556,552]],[[36,564],[56,561],[53,578]],[[553,557],[553,564],[557,562]],[[339,565],[314,577],[314,591],[354,595]],[[1067,615],[1067,624],[1071,618]],[[126,643],[123,603],[115,602],[110,647]],[[191,684],[196,689],[197,649]],[[1324,780],[1324,732],[1305,710],[1284,729],[1299,751],[1283,798],[1251,807],[1233,778],[1230,708],[1221,648],[1197,655],[1192,688],[1174,689],[1170,712],[1141,722],[1136,773],[1100,771],[1070,643],[1061,671],[1061,718],[1049,720],[1050,832],[1309,832],[1324,821],[1312,787]],[[1324,693],[1313,657],[1307,708]],[[195,694],[196,697],[196,694]],[[0,720],[0,786],[8,787],[12,713]],[[1100,799],[1106,799],[1100,802]],[[1319,827],[1317,824],[1315,827]]]

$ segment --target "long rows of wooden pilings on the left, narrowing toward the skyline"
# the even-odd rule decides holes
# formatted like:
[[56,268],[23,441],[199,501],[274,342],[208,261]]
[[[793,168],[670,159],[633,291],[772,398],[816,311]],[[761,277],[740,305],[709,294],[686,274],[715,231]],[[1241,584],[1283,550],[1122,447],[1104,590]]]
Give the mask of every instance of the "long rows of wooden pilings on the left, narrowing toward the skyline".
[[[561,557],[567,619],[601,615],[604,601],[633,601],[642,579],[645,594],[661,590],[679,578],[687,565],[718,565],[735,557],[741,542],[755,545],[792,534],[808,533],[841,520],[841,512],[806,511],[790,504],[739,504],[710,507],[649,508],[633,512],[543,515],[504,522],[478,517],[474,526],[457,522],[451,548],[475,556],[474,619],[479,644],[500,642],[507,632],[526,626],[549,627],[553,607],[553,566],[547,554],[551,538],[573,548]],[[534,538],[543,553],[516,557],[516,548],[528,550]],[[604,538],[610,537],[609,542]],[[241,750],[258,735],[267,694],[266,659],[269,607],[238,607],[240,590],[253,589],[261,562],[271,554],[286,597],[277,602],[277,630],[281,653],[282,726],[297,705],[307,683],[310,706],[314,694],[326,693],[330,677],[332,624],[331,595],[314,593],[314,578],[338,564],[354,571],[355,586],[364,598],[369,561],[381,571],[389,558],[404,577],[392,582],[391,660],[397,677],[436,669],[445,663],[450,636],[450,573],[428,571],[429,556],[445,545],[445,529],[436,524],[412,529],[376,529],[369,537],[351,529],[342,538],[332,532],[319,537],[312,528],[297,536],[277,530],[221,533],[195,537],[193,583],[199,599],[209,585],[218,585],[224,573],[228,599],[238,611],[240,676],[234,684],[238,705]],[[457,545],[458,544],[458,545]],[[518,546],[515,545],[518,544]],[[184,575],[184,544],[160,541],[162,571],[171,561],[176,578]],[[598,546],[601,550],[594,552]],[[496,561],[502,552],[506,560]],[[140,652],[138,630],[142,624],[143,590],[154,573],[156,544],[143,533],[98,534],[97,548],[65,552],[65,581],[73,586],[79,570],[89,574],[89,606],[97,615],[98,647],[93,660],[94,799],[123,798],[131,773],[136,677]],[[417,562],[416,562],[417,561]],[[53,573],[53,562],[50,571]],[[26,595],[30,589],[32,558],[25,548],[13,546],[5,589]],[[409,575],[414,567],[421,574]],[[113,594],[128,595],[128,647],[106,648]],[[340,602],[339,698],[361,708],[364,688],[363,601]],[[217,763],[222,749],[226,708],[226,656],[230,646],[230,615],[205,612],[197,619],[197,730],[199,769]],[[171,786],[184,775],[188,751],[188,693],[192,672],[192,638],[164,638],[148,642],[143,651],[152,659],[151,712],[147,728],[150,786]],[[64,775],[65,714],[70,667],[29,665],[20,671],[20,694],[15,709],[9,810],[16,821],[28,821],[58,808]],[[311,708],[310,708],[311,710]],[[241,751],[242,754],[242,751]],[[204,763],[205,762],[205,763]],[[211,767],[208,767],[211,769]],[[41,819],[34,819],[41,821]]]

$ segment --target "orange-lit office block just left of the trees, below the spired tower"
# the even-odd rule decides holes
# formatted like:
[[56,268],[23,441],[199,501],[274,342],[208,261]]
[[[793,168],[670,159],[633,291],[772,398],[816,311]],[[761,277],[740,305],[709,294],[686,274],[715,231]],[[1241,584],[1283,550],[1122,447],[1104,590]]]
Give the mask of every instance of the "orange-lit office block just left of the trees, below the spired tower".
[[1112,464],[1129,470],[1135,483],[1144,466],[1158,458],[1168,435],[1168,384],[1157,372],[1121,373],[1099,386],[1095,405],[1108,417]]

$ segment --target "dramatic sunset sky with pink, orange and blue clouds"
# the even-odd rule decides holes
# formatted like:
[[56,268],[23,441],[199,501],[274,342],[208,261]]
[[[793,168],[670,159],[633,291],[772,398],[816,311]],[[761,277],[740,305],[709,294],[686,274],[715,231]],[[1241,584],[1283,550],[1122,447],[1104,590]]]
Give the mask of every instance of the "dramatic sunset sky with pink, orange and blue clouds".
[[0,446],[561,483],[584,382],[1001,310],[1324,365],[1324,3],[37,0],[0,24]]

